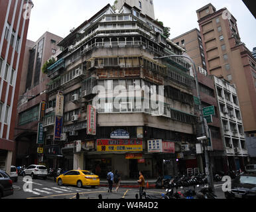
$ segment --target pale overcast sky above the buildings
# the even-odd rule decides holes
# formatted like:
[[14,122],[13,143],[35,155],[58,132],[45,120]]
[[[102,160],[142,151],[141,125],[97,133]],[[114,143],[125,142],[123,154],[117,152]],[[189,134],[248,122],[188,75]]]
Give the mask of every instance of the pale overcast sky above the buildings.
[[[49,31],[67,36],[73,27],[90,19],[114,0],[33,0],[28,39],[36,41]],[[155,0],[155,19],[170,27],[170,38],[199,28],[196,10],[212,3],[217,10],[226,7],[237,19],[241,41],[252,50],[256,47],[256,21],[241,0]]]

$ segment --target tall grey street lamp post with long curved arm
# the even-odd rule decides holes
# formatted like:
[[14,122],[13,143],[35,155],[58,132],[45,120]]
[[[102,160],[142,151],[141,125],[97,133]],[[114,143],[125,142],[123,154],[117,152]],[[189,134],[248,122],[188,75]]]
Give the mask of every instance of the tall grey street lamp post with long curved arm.
[[[159,59],[163,59],[163,58],[186,58],[188,59],[194,66],[194,76],[196,79],[196,92],[198,95],[198,99],[199,99],[199,112],[200,112],[200,123],[202,126],[202,134],[206,135],[206,129],[204,126],[204,115],[203,115],[203,110],[202,110],[202,103],[201,103],[201,97],[200,97],[200,90],[199,90],[199,84],[198,84],[198,75],[196,72],[196,64],[194,63],[194,61],[185,55],[178,55],[178,54],[174,54],[174,55],[169,55],[169,56],[162,56],[162,57],[154,57],[154,60],[159,60]],[[208,186],[211,187],[214,191],[214,181],[213,181],[213,177],[212,177],[212,169],[210,168],[210,160],[209,160],[209,154],[208,154],[208,149],[207,149],[207,140],[204,140],[204,156],[205,156],[205,160],[206,160],[206,168],[208,170]]]

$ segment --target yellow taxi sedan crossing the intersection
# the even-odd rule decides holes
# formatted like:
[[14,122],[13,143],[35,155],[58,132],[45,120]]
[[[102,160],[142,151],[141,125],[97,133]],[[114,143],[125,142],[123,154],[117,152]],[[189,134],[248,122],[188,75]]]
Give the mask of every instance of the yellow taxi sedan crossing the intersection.
[[90,171],[72,170],[58,176],[56,183],[58,185],[76,185],[77,187],[83,187],[84,185],[96,187],[96,185],[99,185],[99,176]]

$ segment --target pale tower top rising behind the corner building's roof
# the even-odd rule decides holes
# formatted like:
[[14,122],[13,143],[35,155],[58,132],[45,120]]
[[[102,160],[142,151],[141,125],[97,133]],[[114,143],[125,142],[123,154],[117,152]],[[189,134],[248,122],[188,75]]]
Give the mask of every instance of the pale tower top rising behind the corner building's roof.
[[121,10],[125,3],[131,7],[137,7],[141,15],[147,15],[151,19],[155,19],[153,0],[117,0],[114,6],[116,9]]

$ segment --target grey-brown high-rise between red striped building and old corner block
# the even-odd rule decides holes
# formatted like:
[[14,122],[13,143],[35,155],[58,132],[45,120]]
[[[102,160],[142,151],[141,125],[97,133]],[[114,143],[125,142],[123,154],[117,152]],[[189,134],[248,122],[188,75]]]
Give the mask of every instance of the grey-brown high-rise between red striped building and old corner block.
[[62,38],[45,32],[36,42],[27,40],[25,57],[19,87],[19,107],[15,127],[17,166],[37,164],[36,139],[40,106],[47,101],[46,86],[49,79],[42,72],[42,66],[50,58],[54,58],[60,48],[57,46]]

